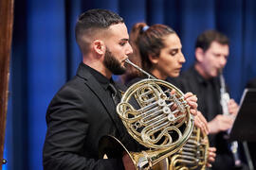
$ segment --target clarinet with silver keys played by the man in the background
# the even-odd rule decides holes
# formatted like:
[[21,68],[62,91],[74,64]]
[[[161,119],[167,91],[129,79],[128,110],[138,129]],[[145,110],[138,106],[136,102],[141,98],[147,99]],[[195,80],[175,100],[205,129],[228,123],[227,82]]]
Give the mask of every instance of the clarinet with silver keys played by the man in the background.
[[[220,84],[221,84],[221,88],[220,88],[220,94],[221,94],[221,106],[222,106],[222,110],[223,110],[223,114],[224,115],[229,115],[229,107],[228,107],[228,103],[229,103],[229,93],[226,90],[226,84],[225,84],[225,79],[223,74],[220,74]],[[228,134],[230,132],[230,129],[228,130]],[[239,154],[238,154],[238,143],[237,141],[233,141],[230,144],[229,147],[233,158],[234,158],[234,164],[236,167],[241,166],[242,161],[239,158]]]

